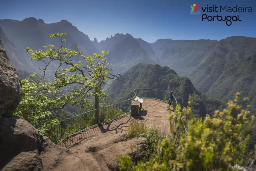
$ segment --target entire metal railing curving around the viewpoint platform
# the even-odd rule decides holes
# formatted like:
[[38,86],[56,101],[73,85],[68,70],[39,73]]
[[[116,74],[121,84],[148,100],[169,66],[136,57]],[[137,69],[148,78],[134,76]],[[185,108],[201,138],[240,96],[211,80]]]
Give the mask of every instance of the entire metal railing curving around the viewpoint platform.
[[[134,93],[133,98],[135,96],[138,96],[143,98],[159,99],[164,102],[167,102],[170,97],[170,92],[157,90],[157,89],[143,89],[143,88],[134,89],[133,93]],[[100,123],[105,123],[119,116],[123,116],[127,113],[130,113],[131,100],[133,98],[113,104],[113,105],[100,107],[99,109],[88,111],[80,115],[76,115],[74,117],[60,121],[59,125],[54,125],[52,127],[49,127],[49,131],[47,132],[46,136],[52,142],[63,146],[63,142],[66,139],[69,139],[77,135],[78,133],[85,131],[86,129],[89,129],[91,127],[95,127],[98,125],[95,121],[95,112],[97,110],[99,110]],[[174,97],[173,104],[171,105],[174,110],[177,105],[177,101],[175,97]],[[182,117],[181,117],[181,121],[183,123]],[[185,128],[185,125],[184,125],[184,128]],[[185,128],[185,131],[187,132],[186,128]]]

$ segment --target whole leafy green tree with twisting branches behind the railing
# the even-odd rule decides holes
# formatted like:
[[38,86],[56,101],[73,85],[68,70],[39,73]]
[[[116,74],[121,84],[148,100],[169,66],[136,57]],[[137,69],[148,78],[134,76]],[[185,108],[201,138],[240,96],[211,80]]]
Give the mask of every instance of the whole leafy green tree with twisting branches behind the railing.
[[[118,75],[120,75],[108,72],[111,70],[108,68],[111,64],[107,63],[105,58],[108,52],[103,51],[103,55],[95,53],[86,57],[81,50],[65,47],[67,42],[63,39],[65,35],[67,33],[50,34],[52,38],[60,38],[61,44],[58,48],[55,48],[55,44],[43,46],[46,48],[45,51],[26,48],[26,52],[32,55],[30,59],[42,61],[45,66],[41,69],[43,72],[41,76],[35,73],[22,80],[23,96],[14,114],[24,117],[42,134],[50,125],[58,124],[58,121],[52,117],[53,111],[63,109],[68,103],[72,106],[88,108],[91,106],[89,97],[94,96],[95,101],[107,97],[101,90],[101,85],[105,84],[108,78],[119,79]],[[75,62],[73,59],[76,56],[83,61]],[[54,78],[47,80],[46,75],[52,70]],[[99,108],[98,101],[95,109]],[[99,112],[96,113],[95,118],[99,123]]]

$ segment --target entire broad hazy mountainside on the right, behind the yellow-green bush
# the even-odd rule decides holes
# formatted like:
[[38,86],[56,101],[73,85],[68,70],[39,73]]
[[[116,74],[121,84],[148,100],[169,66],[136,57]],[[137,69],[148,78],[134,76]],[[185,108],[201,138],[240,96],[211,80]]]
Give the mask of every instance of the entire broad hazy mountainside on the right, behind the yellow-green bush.
[[160,64],[188,76],[198,91],[225,102],[241,92],[256,107],[256,38],[164,39],[151,46]]

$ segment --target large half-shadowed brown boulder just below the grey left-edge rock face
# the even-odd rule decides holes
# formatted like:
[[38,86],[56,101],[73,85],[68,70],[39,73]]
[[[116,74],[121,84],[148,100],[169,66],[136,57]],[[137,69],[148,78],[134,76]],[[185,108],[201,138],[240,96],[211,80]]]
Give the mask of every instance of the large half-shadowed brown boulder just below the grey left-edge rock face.
[[[44,137],[38,133],[36,128],[24,119],[19,117],[1,118],[0,156],[4,157],[0,160],[0,170],[9,162],[11,164],[8,165],[8,168],[17,163],[30,161],[31,156],[35,156],[43,150],[44,141]],[[33,152],[33,154],[22,152]],[[29,159],[25,159],[26,154]],[[20,158],[24,158],[24,162]]]

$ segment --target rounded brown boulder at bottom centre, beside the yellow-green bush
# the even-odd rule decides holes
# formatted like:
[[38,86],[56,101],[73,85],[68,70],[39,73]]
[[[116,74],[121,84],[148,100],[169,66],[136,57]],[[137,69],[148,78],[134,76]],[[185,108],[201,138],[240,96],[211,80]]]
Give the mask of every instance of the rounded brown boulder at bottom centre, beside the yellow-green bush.
[[118,171],[118,156],[129,155],[133,161],[137,162],[147,155],[145,141],[145,138],[121,141],[99,151],[99,154],[111,171]]

